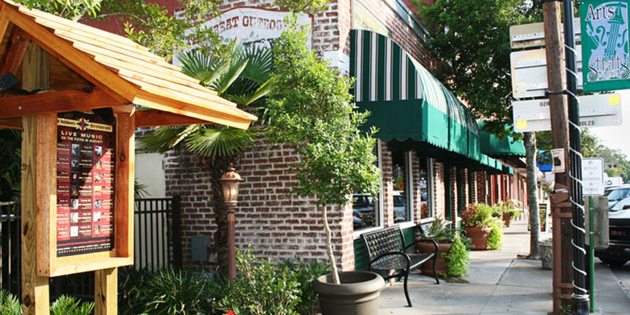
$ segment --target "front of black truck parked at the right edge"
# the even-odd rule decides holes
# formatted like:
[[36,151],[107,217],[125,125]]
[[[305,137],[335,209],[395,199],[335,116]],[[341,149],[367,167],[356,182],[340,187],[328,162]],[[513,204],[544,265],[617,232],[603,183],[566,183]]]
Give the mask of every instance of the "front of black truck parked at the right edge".
[[595,256],[609,266],[623,266],[630,260],[630,209],[609,212],[609,246],[595,249]]

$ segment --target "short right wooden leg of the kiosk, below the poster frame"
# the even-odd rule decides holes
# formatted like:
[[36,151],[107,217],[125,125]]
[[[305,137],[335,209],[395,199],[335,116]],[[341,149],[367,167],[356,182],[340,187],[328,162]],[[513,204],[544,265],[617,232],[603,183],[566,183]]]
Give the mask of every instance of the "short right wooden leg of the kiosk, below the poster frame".
[[94,272],[94,314],[118,314],[118,268]]

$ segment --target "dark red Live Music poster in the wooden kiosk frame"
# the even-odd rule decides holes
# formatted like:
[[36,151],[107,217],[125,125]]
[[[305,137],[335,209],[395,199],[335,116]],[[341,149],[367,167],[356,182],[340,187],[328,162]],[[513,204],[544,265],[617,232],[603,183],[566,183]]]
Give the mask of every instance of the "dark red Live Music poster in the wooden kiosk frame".
[[57,119],[57,255],[114,248],[114,124],[94,114]]

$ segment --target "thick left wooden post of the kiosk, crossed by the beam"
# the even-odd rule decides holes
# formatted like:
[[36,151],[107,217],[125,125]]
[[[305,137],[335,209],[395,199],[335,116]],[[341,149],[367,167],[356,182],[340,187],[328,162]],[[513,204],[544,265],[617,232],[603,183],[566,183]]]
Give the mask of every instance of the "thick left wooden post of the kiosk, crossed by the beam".
[[[29,45],[24,56],[22,86],[24,90],[49,86],[49,56],[36,45]],[[22,310],[25,315],[50,314],[49,279],[37,275],[35,223],[38,215],[47,214],[49,207],[57,203],[56,185],[51,184],[57,179],[56,121],[55,114],[22,119]]]

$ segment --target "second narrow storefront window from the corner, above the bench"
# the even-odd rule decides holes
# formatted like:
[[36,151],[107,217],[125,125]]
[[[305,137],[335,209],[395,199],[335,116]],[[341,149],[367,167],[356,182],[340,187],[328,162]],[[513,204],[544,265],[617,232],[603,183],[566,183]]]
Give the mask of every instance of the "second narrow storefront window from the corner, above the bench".
[[411,158],[409,151],[392,152],[392,181],[394,186],[394,223],[412,220]]

